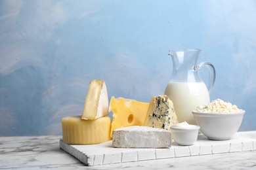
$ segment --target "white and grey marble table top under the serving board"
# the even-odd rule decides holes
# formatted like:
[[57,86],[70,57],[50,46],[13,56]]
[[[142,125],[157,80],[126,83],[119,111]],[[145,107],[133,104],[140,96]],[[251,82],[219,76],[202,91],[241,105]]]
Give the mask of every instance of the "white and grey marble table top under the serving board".
[[61,136],[0,137],[0,169],[256,169],[256,151],[85,166]]

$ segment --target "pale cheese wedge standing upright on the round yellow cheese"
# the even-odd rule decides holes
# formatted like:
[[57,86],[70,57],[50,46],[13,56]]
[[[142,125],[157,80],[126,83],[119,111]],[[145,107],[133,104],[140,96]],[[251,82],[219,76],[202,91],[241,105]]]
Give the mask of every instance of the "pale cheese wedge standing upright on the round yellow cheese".
[[108,115],[108,92],[104,80],[91,80],[85,97],[82,119],[95,120]]

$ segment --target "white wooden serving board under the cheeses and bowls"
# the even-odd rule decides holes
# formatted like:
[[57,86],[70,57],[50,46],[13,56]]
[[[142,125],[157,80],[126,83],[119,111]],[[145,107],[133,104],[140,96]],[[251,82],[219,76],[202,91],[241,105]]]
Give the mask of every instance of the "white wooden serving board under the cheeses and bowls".
[[198,135],[191,146],[179,146],[175,141],[170,148],[114,148],[112,141],[90,145],[70,145],[60,139],[60,148],[75,156],[87,166],[129,161],[158,160],[183,156],[201,156],[256,150],[256,131],[237,132],[227,141],[211,141]]

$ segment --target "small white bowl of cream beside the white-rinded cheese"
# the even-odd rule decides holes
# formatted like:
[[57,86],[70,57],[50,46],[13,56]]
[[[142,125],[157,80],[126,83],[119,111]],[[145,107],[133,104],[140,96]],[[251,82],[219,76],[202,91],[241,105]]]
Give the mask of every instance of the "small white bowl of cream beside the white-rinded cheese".
[[192,145],[198,140],[198,132],[200,127],[190,125],[190,127],[171,126],[171,132],[174,141],[182,146]]

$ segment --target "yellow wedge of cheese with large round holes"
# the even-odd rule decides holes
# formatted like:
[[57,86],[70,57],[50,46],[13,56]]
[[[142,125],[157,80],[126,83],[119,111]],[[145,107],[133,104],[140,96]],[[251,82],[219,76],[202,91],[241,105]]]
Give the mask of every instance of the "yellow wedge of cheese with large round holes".
[[114,129],[120,127],[143,126],[148,106],[149,103],[136,101],[134,99],[125,99],[123,97],[115,99],[115,97],[112,96],[109,107],[109,112],[113,112],[110,136],[112,137],[112,131],[114,131]]

